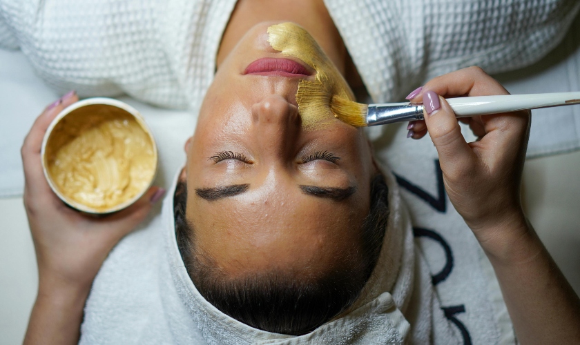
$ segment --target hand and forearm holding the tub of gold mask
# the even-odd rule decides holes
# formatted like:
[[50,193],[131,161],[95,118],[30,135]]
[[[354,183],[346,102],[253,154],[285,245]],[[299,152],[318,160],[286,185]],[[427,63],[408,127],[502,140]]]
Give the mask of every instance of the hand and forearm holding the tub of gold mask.
[[72,210],[52,193],[42,172],[42,139],[52,119],[75,101],[77,96],[68,94],[46,108],[21,150],[26,179],[24,206],[39,273],[38,295],[24,344],[78,342],[84,304],[101,264],[164,193],[152,187],[129,208],[103,218]]

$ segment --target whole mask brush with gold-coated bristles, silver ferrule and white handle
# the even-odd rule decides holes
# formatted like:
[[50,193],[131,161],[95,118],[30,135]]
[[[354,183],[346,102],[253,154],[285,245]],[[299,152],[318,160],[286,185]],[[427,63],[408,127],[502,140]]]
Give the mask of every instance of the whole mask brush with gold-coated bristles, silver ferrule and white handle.
[[[447,102],[456,117],[470,117],[580,104],[580,92],[458,97],[447,99]],[[424,119],[423,104],[409,102],[367,105],[334,96],[331,99],[330,108],[338,119],[356,127]]]

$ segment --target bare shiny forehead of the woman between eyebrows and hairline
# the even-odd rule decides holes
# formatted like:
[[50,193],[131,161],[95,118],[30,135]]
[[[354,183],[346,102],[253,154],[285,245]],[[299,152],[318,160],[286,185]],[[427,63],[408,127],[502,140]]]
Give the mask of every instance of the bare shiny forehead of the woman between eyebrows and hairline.
[[[225,270],[328,268],[360,244],[368,204],[336,203],[289,190],[217,202],[191,197],[195,242]],[[196,200],[197,199],[197,200]],[[191,207],[190,207],[191,206]]]

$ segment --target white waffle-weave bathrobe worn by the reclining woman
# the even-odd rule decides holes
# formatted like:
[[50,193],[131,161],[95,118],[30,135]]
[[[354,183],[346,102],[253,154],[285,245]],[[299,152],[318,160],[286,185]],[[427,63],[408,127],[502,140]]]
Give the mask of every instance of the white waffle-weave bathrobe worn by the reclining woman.
[[[459,68],[537,61],[566,34],[574,0],[327,0],[375,102]],[[0,0],[0,48],[20,48],[55,88],[123,92],[193,108],[209,87],[235,0]]]

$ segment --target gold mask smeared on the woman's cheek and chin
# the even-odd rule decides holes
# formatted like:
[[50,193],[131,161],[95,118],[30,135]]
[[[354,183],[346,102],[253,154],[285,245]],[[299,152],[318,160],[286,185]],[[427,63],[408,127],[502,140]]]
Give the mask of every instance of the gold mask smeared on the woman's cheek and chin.
[[313,37],[295,23],[281,23],[268,28],[269,43],[283,55],[296,57],[316,70],[316,79],[298,83],[296,101],[302,117],[302,128],[317,130],[336,121],[331,99],[338,96],[354,101],[347,81]]

